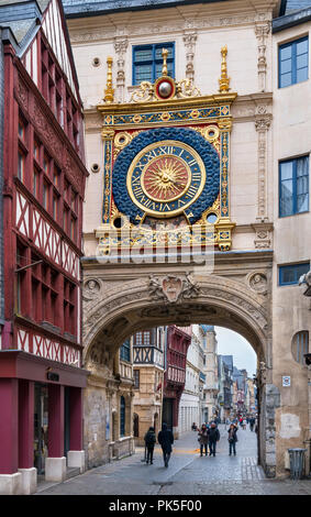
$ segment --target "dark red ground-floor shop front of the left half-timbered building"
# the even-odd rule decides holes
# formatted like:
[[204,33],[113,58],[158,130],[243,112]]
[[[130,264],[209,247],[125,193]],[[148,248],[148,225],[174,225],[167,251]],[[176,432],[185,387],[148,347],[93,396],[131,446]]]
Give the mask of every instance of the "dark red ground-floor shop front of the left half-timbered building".
[[62,482],[85,470],[86,370],[0,351],[0,494],[31,494],[37,479]]

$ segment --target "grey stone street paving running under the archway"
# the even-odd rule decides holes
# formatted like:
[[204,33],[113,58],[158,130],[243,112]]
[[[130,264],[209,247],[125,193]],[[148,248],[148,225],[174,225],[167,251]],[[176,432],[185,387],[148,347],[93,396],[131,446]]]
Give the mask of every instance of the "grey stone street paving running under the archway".
[[238,430],[236,457],[229,457],[227,432],[220,426],[215,458],[200,457],[197,433],[176,440],[168,469],[157,446],[154,464],[142,461],[144,449],[123,460],[87,471],[65,483],[40,485],[37,495],[311,495],[311,480],[265,479],[257,465],[255,432]]

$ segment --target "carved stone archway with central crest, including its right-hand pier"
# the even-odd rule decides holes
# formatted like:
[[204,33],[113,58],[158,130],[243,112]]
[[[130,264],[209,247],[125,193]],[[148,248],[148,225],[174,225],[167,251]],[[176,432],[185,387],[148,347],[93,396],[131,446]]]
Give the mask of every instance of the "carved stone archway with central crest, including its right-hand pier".
[[[238,332],[251,343],[258,359],[257,382],[259,402],[264,408],[258,457],[266,472],[273,476],[276,471],[275,424],[270,415],[277,407],[277,397],[266,397],[266,393],[271,393],[274,388],[267,272],[260,270],[258,288],[259,282],[254,283],[254,275],[249,273],[235,279],[215,274],[190,275],[185,272],[185,266],[181,271],[176,267],[170,274],[167,270],[159,271],[157,275],[151,275],[148,268],[136,279],[125,277],[122,282],[110,284],[102,278],[102,270],[98,271],[101,288],[96,296],[87,299],[84,310],[85,366],[96,375],[104,377],[112,373],[120,378],[116,352],[121,344],[135,332],[158,326],[207,323]],[[262,288],[264,282],[265,289]],[[169,290],[167,285],[174,288]],[[267,436],[268,452],[265,447]]]

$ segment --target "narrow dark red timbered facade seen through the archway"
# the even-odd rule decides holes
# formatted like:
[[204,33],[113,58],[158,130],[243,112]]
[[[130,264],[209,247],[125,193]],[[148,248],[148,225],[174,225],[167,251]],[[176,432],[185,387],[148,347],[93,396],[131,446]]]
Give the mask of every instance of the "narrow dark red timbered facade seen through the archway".
[[190,343],[191,326],[180,328],[171,324],[168,327],[163,414],[164,419],[171,419],[171,422],[167,424],[171,424],[174,430],[178,428],[179,402],[186,383],[187,351]]

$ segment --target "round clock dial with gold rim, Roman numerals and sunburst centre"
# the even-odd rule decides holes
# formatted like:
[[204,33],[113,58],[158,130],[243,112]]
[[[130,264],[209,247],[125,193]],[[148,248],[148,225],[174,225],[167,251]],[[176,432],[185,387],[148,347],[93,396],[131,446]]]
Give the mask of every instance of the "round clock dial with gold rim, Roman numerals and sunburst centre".
[[182,142],[165,140],[143,148],[126,177],[132,201],[145,213],[173,217],[200,196],[206,167],[200,155]]

